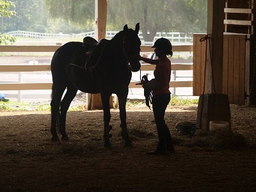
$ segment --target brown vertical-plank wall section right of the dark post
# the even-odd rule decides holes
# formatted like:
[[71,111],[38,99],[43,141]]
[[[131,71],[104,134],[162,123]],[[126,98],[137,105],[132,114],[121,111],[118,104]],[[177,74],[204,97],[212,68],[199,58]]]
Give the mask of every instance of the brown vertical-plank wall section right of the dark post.
[[244,104],[246,36],[223,36],[223,94],[230,104]]

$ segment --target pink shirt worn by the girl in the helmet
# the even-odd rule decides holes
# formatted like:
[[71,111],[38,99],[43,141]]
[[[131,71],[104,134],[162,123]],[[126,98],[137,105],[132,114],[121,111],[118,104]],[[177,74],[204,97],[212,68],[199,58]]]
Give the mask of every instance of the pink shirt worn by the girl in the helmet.
[[152,90],[153,95],[170,94],[170,80],[171,80],[171,61],[159,61],[157,68],[154,70],[154,76],[157,81],[157,88]]

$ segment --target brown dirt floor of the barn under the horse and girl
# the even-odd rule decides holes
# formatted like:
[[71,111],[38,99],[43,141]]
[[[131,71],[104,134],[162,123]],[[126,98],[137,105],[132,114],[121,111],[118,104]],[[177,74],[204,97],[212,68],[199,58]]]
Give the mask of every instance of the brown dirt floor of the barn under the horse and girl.
[[168,106],[175,154],[164,156],[146,154],[157,145],[146,106],[127,108],[129,148],[118,109],[111,109],[111,148],[102,147],[100,110],[68,112],[70,140],[57,142],[49,111],[0,111],[0,191],[256,191],[256,110],[230,108],[234,134],[220,143],[216,135],[196,131],[190,139],[175,128],[195,122],[197,106]]

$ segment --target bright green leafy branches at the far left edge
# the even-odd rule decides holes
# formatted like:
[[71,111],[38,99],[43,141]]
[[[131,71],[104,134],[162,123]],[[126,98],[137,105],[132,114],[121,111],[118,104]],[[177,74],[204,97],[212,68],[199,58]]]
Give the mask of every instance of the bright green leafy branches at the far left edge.
[[[15,7],[15,4],[0,0],[1,31],[3,31],[3,17],[12,17],[16,14],[15,11],[10,10],[11,6]],[[15,37],[0,32],[0,44],[8,44],[8,42],[15,42]]]

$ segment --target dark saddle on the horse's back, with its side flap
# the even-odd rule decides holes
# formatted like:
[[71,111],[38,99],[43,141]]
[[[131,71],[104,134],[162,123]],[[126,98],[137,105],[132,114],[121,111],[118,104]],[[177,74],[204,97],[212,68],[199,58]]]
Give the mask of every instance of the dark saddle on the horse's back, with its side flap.
[[90,36],[86,36],[83,39],[83,50],[76,51],[70,65],[84,68],[86,71],[92,71],[100,60],[102,51],[108,40],[102,39],[99,42]]

